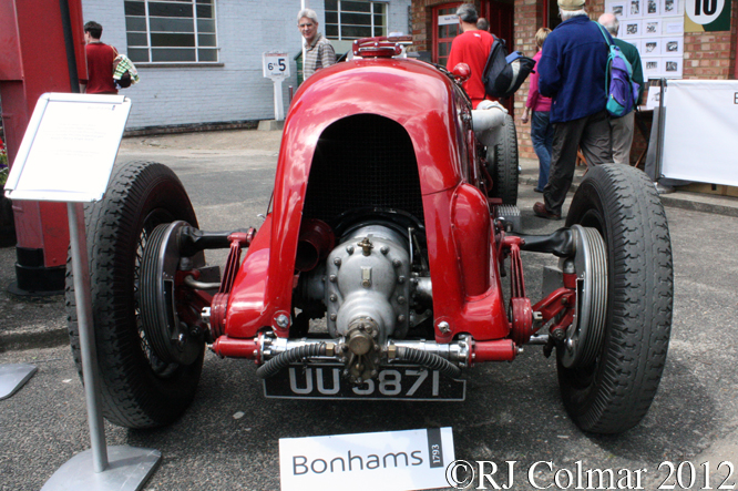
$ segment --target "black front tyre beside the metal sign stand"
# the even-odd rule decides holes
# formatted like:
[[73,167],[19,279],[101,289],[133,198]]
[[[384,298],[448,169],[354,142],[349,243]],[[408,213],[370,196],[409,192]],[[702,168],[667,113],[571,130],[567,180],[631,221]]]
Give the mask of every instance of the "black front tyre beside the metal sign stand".
[[[176,219],[197,226],[177,176],[148,162],[116,166],[104,198],[85,209],[102,411],[109,421],[127,428],[153,428],[178,418],[192,402],[202,371],[204,348],[189,365],[156,357],[139,307],[147,237],[157,225]],[[71,267],[66,272],[69,331],[81,374]]]

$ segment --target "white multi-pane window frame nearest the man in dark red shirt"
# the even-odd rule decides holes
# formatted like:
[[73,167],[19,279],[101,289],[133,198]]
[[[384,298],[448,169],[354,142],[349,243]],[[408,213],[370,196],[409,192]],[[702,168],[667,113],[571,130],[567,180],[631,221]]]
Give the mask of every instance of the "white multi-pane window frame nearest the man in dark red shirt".
[[[135,33],[135,34],[145,34],[146,35],[146,47],[142,45],[132,45],[129,44],[129,50],[146,50],[148,53],[148,60],[147,61],[137,61],[133,60],[136,64],[213,64],[213,63],[219,63],[221,59],[221,48],[218,45],[218,23],[217,23],[217,13],[216,13],[216,0],[209,0],[209,7],[213,9],[213,17],[212,18],[204,18],[202,20],[212,20],[214,24],[214,32],[203,32],[203,34],[212,34],[215,37],[215,45],[199,45],[199,34],[201,32],[198,31],[197,27],[197,0],[185,0],[185,1],[173,1],[173,0],[133,0],[133,1],[139,1],[144,3],[144,16],[125,16],[126,20],[129,18],[136,18],[136,19],[144,19],[146,22],[146,32],[143,31],[129,31],[127,25],[126,25],[126,43],[127,43],[127,34],[129,33]],[[175,6],[182,6],[182,4],[189,4],[192,6],[193,10],[193,16],[192,17],[181,17],[181,18],[175,18],[175,17],[164,17],[161,19],[187,19],[192,20],[193,23],[193,31],[187,31],[187,32],[182,32],[182,31],[156,31],[153,32],[154,34],[158,33],[166,33],[166,34],[193,34],[195,39],[195,45],[194,47],[161,47],[161,45],[153,45],[151,38],[152,38],[152,30],[151,30],[151,19],[154,18],[156,19],[157,17],[152,17],[148,13],[148,4],[153,3],[171,3]],[[201,0],[201,3],[202,0]],[[157,60],[154,61],[154,53],[153,50],[156,49],[166,49],[166,50],[194,50],[195,51],[195,60],[187,60],[187,61],[182,61],[182,60]],[[201,60],[199,59],[199,50],[201,49],[206,49],[206,50],[215,50],[215,60]],[[131,58],[131,57],[129,57]]]

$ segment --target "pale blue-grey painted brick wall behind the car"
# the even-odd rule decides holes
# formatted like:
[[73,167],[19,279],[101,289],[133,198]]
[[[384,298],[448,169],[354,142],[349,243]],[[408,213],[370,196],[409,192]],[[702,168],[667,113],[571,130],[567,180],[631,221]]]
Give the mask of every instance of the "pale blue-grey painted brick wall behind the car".
[[[306,3],[324,19],[322,0]],[[388,32],[408,33],[410,0],[388,3]],[[82,7],[85,22],[103,24],[102,41],[125,53],[123,0],[83,0]],[[274,84],[262,75],[262,54],[271,50],[290,53],[291,76],[283,83],[287,111],[288,86],[297,89],[291,58],[301,49],[296,18],[300,1],[216,0],[215,7],[219,65],[136,64],[141,82],[121,91],[133,102],[129,130],[274,119]]]

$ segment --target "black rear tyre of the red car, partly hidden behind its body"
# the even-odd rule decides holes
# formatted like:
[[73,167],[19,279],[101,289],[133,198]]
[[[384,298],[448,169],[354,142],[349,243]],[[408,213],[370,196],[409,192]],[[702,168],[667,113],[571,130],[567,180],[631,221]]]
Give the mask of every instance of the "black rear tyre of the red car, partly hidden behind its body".
[[[505,116],[505,125],[500,130],[500,143],[494,145],[493,152],[488,149],[488,162],[492,177],[492,197],[502,198],[503,205],[517,204],[517,133],[512,116]],[[490,155],[492,153],[492,155]]]

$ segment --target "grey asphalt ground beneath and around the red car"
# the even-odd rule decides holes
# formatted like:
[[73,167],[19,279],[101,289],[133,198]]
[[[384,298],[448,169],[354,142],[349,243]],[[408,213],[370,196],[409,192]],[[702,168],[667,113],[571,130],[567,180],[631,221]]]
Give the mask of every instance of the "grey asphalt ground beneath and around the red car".
[[[125,139],[119,158],[170,165],[187,188],[201,227],[223,231],[260,224],[257,215],[268,206],[278,149],[278,132],[196,133]],[[523,229],[553,232],[562,222],[537,218],[531,209],[541,198],[533,192],[536,163],[521,164]],[[577,170],[577,181],[582,173]],[[530,346],[512,364],[470,370],[467,401],[445,403],[265,399],[253,364],[208,352],[196,399],[182,419],[155,431],[106,423],[107,442],[163,453],[146,490],[279,489],[279,438],[447,426],[453,428],[457,458],[501,466],[519,461],[512,489],[531,489],[524,470],[541,460],[552,461],[554,471],[574,470],[576,461],[586,469],[647,469],[643,485],[649,490],[667,478],[665,461],[689,462],[698,474],[689,489],[708,489],[703,462],[709,462],[709,483],[717,489],[729,470],[720,462],[738,466],[738,218],[730,212],[738,206],[730,198],[711,204],[711,196],[679,196],[685,194],[663,197],[675,267],[666,369],[650,411],[624,434],[580,431],[561,403],[554,361]],[[14,280],[13,256],[13,247],[0,248],[3,288]],[[208,254],[208,259],[222,265],[225,256]],[[524,253],[534,301],[541,269],[553,262]],[[61,464],[90,447],[82,385],[64,345],[61,297],[19,298],[3,290],[0,316],[0,364],[39,368],[18,393],[0,401],[0,490],[38,490]],[[683,469],[689,472],[687,464]],[[543,472],[539,482],[553,483],[552,474]],[[737,482],[734,471],[727,483]],[[674,483],[674,477],[666,481]]]

